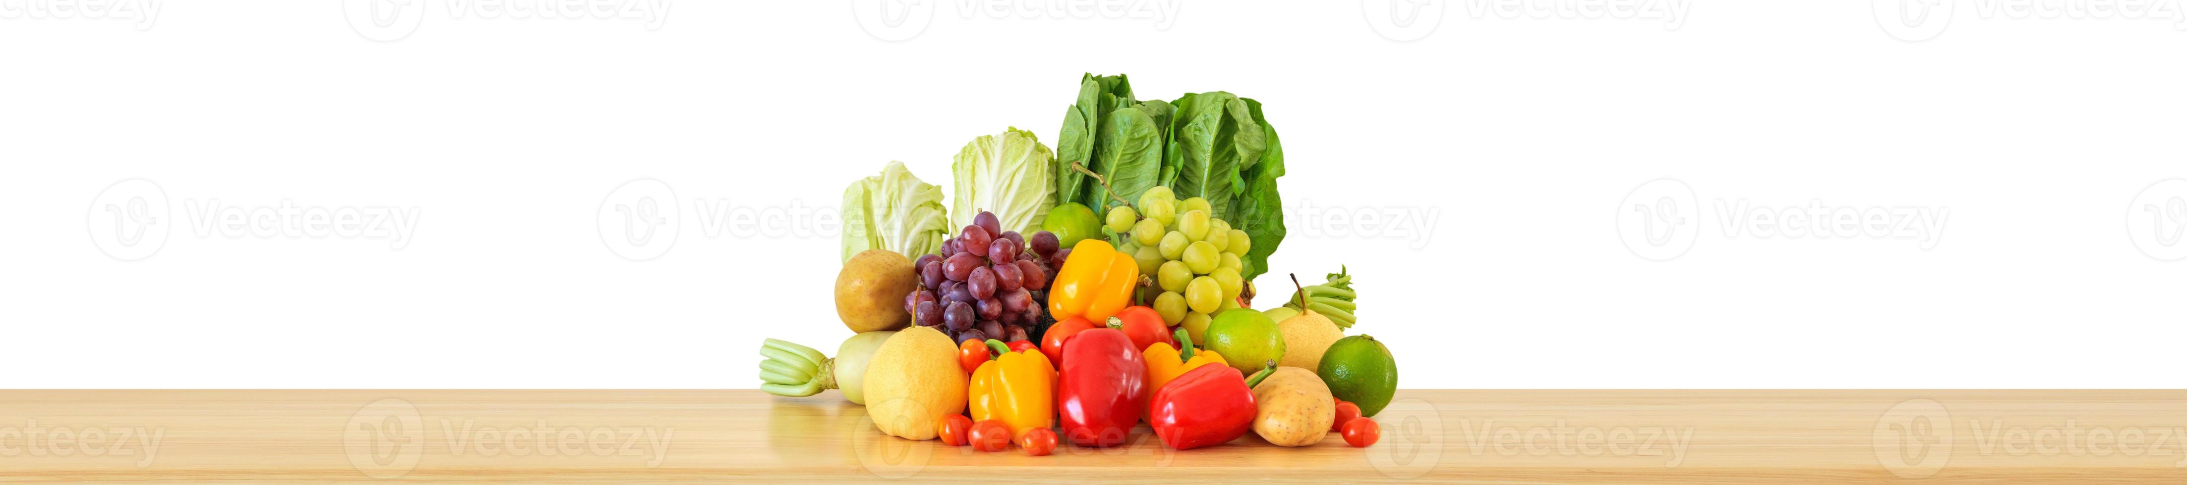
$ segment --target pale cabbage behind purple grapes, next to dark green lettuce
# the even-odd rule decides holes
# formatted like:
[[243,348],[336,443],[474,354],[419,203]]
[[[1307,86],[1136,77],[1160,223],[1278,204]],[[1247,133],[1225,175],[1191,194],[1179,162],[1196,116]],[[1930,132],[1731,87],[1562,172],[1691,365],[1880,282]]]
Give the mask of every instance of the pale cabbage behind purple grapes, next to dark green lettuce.
[[949,164],[956,186],[949,227],[971,225],[986,210],[995,212],[1004,232],[1039,232],[1056,205],[1054,157],[1032,131],[1015,127],[971,140]]

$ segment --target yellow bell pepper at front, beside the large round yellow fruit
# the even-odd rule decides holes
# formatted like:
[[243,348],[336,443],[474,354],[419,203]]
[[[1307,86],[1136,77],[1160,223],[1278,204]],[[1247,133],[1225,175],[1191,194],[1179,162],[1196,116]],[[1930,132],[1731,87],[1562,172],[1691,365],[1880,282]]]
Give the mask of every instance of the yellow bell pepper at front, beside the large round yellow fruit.
[[1013,437],[1048,428],[1056,417],[1056,367],[1037,347],[1004,352],[971,374],[967,402],[973,422],[1002,419]]

